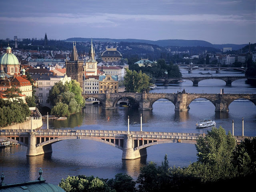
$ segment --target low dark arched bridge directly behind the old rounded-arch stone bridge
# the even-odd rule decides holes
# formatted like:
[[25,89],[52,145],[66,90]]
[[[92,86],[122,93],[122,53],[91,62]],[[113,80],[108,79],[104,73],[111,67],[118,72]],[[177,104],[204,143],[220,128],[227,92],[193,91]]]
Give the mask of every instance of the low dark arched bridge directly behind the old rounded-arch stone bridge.
[[168,85],[172,81],[178,80],[190,80],[193,82],[193,86],[198,86],[198,82],[208,79],[220,79],[226,82],[226,86],[231,86],[233,81],[239,79],[256,79],[256,77],[246,77],[246,76],[225,76],[225,77],[182,77],[182,78],[156,78],[157,81],[161,81],[164,85]]

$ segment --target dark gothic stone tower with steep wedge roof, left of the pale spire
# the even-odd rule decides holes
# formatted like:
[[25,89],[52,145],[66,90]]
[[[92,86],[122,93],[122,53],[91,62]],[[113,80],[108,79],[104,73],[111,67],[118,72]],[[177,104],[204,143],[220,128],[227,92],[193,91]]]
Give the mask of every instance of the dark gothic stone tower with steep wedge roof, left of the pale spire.
[[76,50],[76,43],[73,42],[73,50],[71,52],[71,58],[69,61],[66,59],[66,75],[75,79],[80,83],[80,87],[83,87],[83,61],[78,60],[78,54]]

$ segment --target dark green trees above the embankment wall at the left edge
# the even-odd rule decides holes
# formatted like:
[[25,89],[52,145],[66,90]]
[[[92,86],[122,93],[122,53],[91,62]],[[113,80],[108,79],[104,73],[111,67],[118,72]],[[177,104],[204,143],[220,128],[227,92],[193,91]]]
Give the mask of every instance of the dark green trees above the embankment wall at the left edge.
[[0,126],[24,122],[29,116],[29,107],[21,99],[14,100],[14,102],[0,99]]

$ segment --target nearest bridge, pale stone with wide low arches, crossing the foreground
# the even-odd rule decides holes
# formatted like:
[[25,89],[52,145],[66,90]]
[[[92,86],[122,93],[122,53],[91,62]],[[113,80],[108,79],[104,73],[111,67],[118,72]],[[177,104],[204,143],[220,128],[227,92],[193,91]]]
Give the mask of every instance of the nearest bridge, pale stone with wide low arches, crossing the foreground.
[[[102,142],[123,151],[122,159],[136,159],[147,155],[146,148],[163,143],[191,143],[203,134],[114,131],[114,130],[5,130],[0,132],[0,139],[15,142],[27,147],[27,156],[37,156],[52,152],[52,144],[62,140],[86,139]],[[235,136],[238,143],[246,136]]]

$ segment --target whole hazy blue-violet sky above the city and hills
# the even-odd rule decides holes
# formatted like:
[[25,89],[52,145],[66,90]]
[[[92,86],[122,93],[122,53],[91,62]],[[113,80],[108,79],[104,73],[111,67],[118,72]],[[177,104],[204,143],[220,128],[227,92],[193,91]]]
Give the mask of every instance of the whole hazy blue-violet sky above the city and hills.
[[7,0],[0,39],[256,42],[256,0]]

